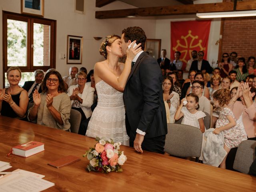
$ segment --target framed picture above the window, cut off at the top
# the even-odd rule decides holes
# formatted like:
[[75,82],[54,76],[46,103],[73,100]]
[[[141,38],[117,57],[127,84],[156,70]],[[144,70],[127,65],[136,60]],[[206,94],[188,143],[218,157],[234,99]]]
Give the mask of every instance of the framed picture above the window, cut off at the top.
[[44,0],[21,0],[21,13],[44,16]]

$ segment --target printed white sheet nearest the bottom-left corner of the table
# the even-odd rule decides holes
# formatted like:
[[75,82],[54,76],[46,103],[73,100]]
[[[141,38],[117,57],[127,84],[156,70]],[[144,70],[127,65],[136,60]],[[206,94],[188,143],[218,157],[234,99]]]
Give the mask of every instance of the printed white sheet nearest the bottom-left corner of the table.
[[[20,175],[20,174],[18,174]],[[54,186],[54,183],[33,176],[18,176],[0,185],[0,191],[4,192],[40,192]]]

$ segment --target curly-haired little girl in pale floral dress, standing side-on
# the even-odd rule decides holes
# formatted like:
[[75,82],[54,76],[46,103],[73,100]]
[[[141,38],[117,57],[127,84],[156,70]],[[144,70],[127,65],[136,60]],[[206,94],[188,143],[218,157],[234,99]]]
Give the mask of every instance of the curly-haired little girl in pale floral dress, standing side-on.
[[[219,134],[221,131],[224,135],[224,150],[227,155],[230,149],[238,147],[240,142],[247,140],[247,135],[242,123],[236,122],[234,114],[227,104],[230,101],[231,96],[229,90],[220,89],[213,94],[213,101],[216,107],[220,107],[220,115],[216,121],[216,128],[213,131],[214,134]],[[226,157],[222,160],[220,168],[226,169]]]

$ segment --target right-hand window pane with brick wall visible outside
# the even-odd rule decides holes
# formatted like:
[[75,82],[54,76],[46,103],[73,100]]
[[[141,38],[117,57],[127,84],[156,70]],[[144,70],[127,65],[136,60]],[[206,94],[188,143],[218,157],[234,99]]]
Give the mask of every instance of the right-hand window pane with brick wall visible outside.
[[34,66],[50,66],[50,26],[34,23]]

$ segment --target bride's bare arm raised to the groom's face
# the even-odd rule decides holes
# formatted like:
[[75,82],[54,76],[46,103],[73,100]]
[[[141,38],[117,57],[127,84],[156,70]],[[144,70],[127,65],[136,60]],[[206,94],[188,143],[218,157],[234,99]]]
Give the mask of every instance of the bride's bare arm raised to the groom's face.
[[107,70],[105,67],[102,66],[102,63],[97,62],[94,66],[94,74],[97,74],[98,77],[100,77],[104,82],[112,86],[113,88],[123,91],[127,78],[130,74],[131,71],[131,65],[132,65],[132,60],[138,54],[142,48],[139,47],[141,45],[138,44],[136,47],[133,48],[133,44],[135,42],[132,42],[130,50],[126,50],[126,61],[124,64],[124,70],[122,71],[122,74],[117,78],[112,72]]

